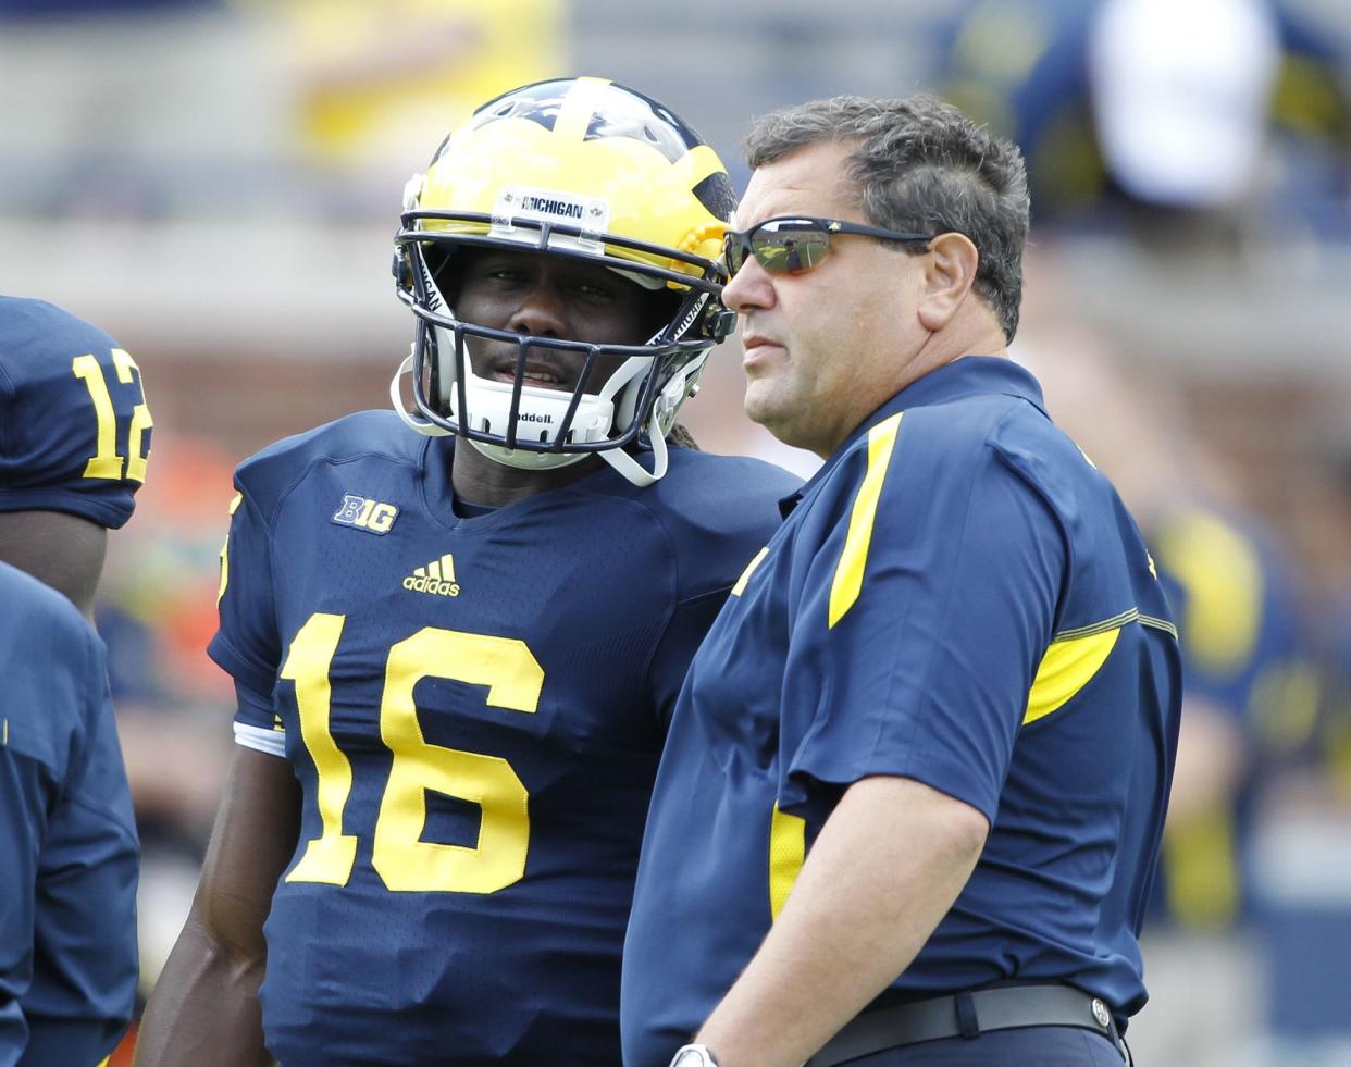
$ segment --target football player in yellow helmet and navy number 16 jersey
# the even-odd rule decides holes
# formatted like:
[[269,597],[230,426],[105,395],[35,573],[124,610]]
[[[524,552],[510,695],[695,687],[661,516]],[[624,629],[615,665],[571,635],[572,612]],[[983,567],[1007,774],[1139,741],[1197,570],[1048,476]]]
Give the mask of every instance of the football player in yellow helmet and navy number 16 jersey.
[[619,1062],[667,716],[797,488],[667,440],[732,200],[601,78],[485,104],[409,182],[415,409],[396,378],[236,474],[239,744],[138,1064]]

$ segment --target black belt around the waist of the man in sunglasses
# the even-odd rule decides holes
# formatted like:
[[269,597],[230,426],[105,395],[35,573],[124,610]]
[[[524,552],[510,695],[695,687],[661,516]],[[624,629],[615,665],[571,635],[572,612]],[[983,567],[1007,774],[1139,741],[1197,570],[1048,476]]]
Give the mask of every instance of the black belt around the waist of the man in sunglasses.
[[1106,1005],[1088,993],[1070,986],[996,986],[865,1012],[805,1067],[835,1067],[888,1048],[1019,1026],[1082,1026],[1121,1048]]

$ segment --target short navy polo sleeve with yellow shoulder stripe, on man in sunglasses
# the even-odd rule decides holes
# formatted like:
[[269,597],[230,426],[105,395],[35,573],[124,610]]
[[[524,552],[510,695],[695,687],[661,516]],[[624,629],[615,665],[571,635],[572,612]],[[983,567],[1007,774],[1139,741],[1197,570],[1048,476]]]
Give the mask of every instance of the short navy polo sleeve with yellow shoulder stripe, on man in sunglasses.
[[994,820],[1054,629],[1065,542],[1048,504],[994,450],[954,459],[917,436],[902,428],[890,455],[871,442],[866,474],[807,569],[784,679],[784,736],[800,739],[785,760],[785,810],[805,801],[809,779],[882,774]]

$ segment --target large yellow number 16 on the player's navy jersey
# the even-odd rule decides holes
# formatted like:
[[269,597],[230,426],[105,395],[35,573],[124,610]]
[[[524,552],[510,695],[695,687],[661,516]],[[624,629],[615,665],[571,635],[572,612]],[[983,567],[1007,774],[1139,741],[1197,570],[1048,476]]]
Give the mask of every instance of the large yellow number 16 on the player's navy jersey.
[[[343,886],[357,860],[357,836],[343,833],[351,794],[351,760],[330,728],[328,670],[346,616],[309,616],[296,633],[281,677],[296,683],[300,733],[316,773],[320,836],[286,875],[288,882]],[[486,704],[532,714],[544,671],[511,637],[490,637],[426,627],[389,650],[380,702],[380,737],[389,748],[389,782],[380,801],[372,866],[396,893],[496,893],[526,874],[530,848],[530,794],[511,763],[499,756],[430,744],[417,721],[413,689],[423,678],[488,686]],[[482,812],[474,847],[422,840],[427,791],[477,804]]]

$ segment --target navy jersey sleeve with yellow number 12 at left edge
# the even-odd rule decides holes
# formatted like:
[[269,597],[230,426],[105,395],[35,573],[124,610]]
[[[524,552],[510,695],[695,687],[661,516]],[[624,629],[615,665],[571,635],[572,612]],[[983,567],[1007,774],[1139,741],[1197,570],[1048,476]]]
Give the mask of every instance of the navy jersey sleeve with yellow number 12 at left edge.
[[116,529],[146,479],[151,425],[118,342],[51,304],[0,296],[0,512]]

